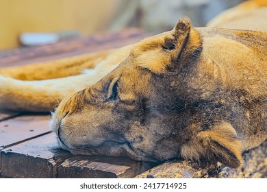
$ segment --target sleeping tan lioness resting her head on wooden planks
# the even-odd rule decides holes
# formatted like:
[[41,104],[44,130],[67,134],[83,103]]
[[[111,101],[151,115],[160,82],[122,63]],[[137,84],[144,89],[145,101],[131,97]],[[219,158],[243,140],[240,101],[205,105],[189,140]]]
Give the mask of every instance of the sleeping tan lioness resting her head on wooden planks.
[[183,18],[135,45],[2,69],[0,106],[43,112],[63,99],[51,125],[73,154],[235,168],[267,138],[266,47],[266,32]]

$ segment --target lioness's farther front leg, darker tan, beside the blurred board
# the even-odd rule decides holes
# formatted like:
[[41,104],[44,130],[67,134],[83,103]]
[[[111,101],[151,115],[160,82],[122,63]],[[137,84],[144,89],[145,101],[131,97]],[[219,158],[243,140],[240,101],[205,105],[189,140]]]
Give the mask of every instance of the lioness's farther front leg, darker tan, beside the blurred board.
[[[79,75],[82,69],[92,69],[97,62],[107,58],[110,51],[99,51],[97,53],[63,58],[60,60],[27,64],[23,67],[7,67],[0,69],[0,74],[17,80],[47,80],[71,75]],[[25,71],[27,71],[25,73]]]

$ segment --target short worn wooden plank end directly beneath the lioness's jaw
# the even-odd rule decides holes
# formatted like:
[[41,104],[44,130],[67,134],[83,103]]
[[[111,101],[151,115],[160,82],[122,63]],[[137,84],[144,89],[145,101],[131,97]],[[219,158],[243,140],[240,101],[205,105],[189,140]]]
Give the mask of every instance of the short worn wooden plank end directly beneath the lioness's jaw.
[[58,178],[133,178],[154,166],[128,158],[73,156],[58,167]]

